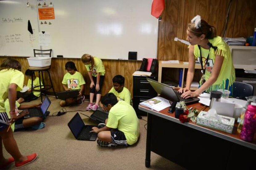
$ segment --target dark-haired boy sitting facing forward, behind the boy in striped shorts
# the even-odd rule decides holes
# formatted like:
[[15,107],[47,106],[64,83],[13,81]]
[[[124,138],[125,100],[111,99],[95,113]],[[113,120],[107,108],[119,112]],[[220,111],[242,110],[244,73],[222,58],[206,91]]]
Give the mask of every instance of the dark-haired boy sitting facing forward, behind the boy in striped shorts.
[[118,101],[123,100],[132,105],[131,93],[126,87],[124,87],[124,81],[125,78],[121,75],[113,77],[113,87],[109,90],[109,93],[114,93]]

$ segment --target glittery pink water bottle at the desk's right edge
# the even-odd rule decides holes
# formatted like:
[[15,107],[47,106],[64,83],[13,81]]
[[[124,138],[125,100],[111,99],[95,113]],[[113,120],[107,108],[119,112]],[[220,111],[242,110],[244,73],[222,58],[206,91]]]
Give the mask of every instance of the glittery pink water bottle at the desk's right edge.
[[245,116],[240,138],[242,140],[251,142],[254,137],[256,130],[256,103],[248,105]]

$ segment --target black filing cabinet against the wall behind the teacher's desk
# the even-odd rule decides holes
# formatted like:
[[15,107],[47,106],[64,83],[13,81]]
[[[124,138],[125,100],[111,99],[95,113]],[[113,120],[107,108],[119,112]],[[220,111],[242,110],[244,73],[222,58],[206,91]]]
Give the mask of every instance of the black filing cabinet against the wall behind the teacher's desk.
[[157,81],[156,76],[133,76],[133,108],[141,116],[147,116],[147,113],[138,109],[139,103],[157,96],[146,78]]

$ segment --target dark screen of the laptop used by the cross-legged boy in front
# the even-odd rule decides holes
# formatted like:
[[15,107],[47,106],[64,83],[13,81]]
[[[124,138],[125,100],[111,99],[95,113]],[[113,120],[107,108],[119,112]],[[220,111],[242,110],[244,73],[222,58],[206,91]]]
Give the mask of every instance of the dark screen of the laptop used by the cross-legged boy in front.
[[78,137],[80,131],[82,130],[82,128],[84,127],[84,125],[85,124],[84,124],[83,120],[81,119],[79,113],[76,113],[76,115],[69,122],[68,127],[70,128],[71,132],[77,139],[77,137]]

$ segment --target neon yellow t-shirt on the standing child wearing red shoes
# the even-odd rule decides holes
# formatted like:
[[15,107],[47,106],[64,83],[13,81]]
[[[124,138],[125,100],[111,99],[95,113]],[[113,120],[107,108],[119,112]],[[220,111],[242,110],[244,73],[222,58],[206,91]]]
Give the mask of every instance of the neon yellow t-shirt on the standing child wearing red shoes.
[[8,98],[9,85],[14,83],[17,85],[16,91],[23,88],[24,74],[15,69],[3,69],[0,71],[0,112],[6,112],[4,101]]

